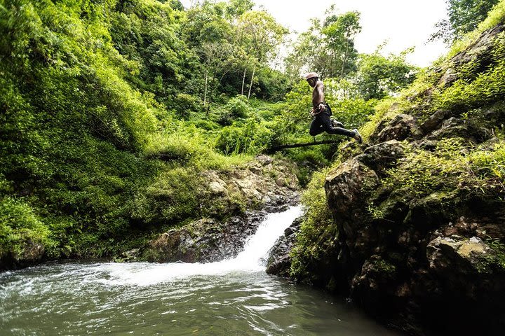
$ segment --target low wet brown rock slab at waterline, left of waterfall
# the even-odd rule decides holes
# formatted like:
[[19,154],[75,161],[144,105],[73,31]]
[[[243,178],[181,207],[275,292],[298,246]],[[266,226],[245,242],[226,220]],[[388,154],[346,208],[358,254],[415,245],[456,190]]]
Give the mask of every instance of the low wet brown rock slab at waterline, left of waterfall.
[[268,210],[248,211],[218,222],[206,218],[164,232],[142,251],[142,259],[151,262],[215,262],[234,258],[244,248],[269,212],[283,211],[298,202],[297,195],[283,199],[280,205],[269,205]]

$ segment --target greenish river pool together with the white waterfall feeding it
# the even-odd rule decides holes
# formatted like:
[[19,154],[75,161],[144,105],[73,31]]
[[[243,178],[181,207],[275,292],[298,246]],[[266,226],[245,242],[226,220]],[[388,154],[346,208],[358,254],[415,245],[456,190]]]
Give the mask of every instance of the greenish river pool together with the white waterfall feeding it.
[[393,336],[350,304],[264,272],[300,207],[270,214],[236,258],[57,262],[0,274],[0,335]]

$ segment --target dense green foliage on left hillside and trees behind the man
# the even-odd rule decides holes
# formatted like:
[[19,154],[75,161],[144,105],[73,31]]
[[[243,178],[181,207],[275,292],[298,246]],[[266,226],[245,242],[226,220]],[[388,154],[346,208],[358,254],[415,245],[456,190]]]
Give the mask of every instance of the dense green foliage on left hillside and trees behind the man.
[[[415,72],[403,59],[356,53],[359,13],[330,10],[314,29],[324,48],[295,49],[280,71],[288,30],[250,0],[189,9],[1,0],[0,259],[22,260],[36,244],[49,258],[114,255],[192,218],[227,216],[201,173],[311,141],[302,71],[324,66],[327,101],[347,128]],[[382,63],[393,71],[370,71]],[[388,85],[370,94],[377,78]],[[336,148],[283,155],[307,183]]]

